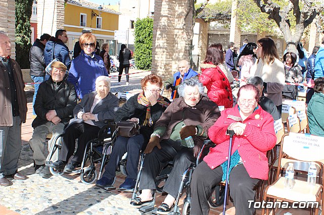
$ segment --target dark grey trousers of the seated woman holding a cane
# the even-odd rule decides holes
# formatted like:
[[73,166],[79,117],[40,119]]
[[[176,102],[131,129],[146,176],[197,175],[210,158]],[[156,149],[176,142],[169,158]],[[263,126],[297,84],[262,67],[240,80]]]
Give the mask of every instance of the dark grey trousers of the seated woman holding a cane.
[[[208,198],[212,188],[222,181],[223,170],[219,166],[212,170],[206,162],[201,162],[193,171],[191,180],[190,214],[208,214]],[[244,165],[237,165],[229,174],[230,196],[234,200],[235,214],[255,214],[255,208],[249,208],[248,200],[254,200],[255,185],[259,179],[250,178]],[[252,204],[253,205],[253,204]]]

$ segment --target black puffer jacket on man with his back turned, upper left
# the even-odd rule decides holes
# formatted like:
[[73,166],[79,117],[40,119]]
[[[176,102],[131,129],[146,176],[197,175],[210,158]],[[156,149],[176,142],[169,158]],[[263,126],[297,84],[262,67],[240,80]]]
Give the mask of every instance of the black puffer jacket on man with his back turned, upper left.
[[44,59],[45,45],[36,39],[30,48],[29,61],[30,61],[30,75],[44,76],[45,75],[45,59]]

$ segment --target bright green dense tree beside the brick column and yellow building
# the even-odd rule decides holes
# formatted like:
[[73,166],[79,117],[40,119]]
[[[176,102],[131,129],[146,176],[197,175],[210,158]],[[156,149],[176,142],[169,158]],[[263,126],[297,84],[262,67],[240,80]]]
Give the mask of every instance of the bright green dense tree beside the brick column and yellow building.
[[135,61],[138,69],[152,67],[153,19],[137,19],[135,22]]

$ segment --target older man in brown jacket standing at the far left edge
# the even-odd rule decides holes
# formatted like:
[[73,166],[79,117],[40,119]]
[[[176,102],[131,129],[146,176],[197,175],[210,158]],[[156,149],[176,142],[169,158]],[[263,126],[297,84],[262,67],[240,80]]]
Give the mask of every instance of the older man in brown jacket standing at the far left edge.
[[27,114],[25,84],[18,63],[10,56],[11,41],[0,31],[0,186],[12,185],[8,178],[27,179],[18,172],[21,124]]

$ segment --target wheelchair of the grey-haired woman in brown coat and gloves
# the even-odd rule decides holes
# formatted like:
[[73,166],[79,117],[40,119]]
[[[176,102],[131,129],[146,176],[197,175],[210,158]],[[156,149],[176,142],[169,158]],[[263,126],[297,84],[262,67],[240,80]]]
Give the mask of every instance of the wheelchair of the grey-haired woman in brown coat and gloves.
[[[206,149],[209,149],[211,146],[213,146],[214,143],[212,143],[212,141],[210,140],[205,140],[203,146],[201,147],[198,156],[196,158],[196,161],[194,163],[192,163],[187,170],[184,171],[183,175],[182,175],[182,179],[181,179],[181,183],[178,189],[178,194],[175,200],[175,206],[173,208],[173,211],[171,211],[169,214],[176,214],[176,215],[180,215],[180,210],[179,210],[179,200],[183,194],[183,190],[185,190],[186,192],[186,197],[184,199],[184,206],[182,209],[182,214],[189,214],[190,213],[190,205],[191,205],[191,190],[190,190],[190,182],[191,182],[191,178],[192,178],[192,173],[194,171],[194,169],[196,168],[196,166],[199,164],[200,160],[201,160],[201,156],[202,155],[206,155],[205,152],[207,151]],[[140,168],[137,174],[137,179],[136,179],[136,184],[135,184],[135,188],[133,191],[133,195],[132,198],[136,198],[139,195],[139,191],[138,191],[138,187],[139,187],[139,181],[141,178],[141,174],[142,174],[142,169],[143,169],[143,164],[144,164],[144,158],[145,158],[145,154],[142,153],[141,155],[141,162],[140,162]],[[169,164],[160,172],[160,174],[155,178],[155,186],[156,186],[156,191],[154,192],[153,195],[153,201],[147,205],[147,206],[142,206],[139,208],[139,210],[141,212],[149,212],[151,210],[154,209],[154,204],[155,204],[155,196],[156,196],[156,192],[162,192],[163,190],[163,186],[161,185],[161,182],[165,182],[168,180],[169,174],[171,172],[173,168],[173,162],[169,162]],[[152,213],[156,213],[154,210],[152,211]]]

